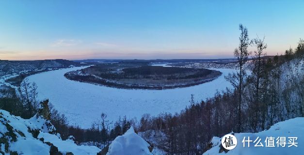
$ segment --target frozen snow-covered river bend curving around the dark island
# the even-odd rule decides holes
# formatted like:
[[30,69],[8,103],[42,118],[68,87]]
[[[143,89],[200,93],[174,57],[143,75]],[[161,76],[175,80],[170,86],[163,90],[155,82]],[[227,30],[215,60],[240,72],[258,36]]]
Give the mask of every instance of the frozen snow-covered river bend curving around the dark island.
[[64,113],[70,124],[82,128],[91,127],[102,112],[110,121],[119,116],[141,118],[144,113],[158,115],[162,112],[180,112],[190,105],[191,94],[196,101],[212,97],[216,90],[222,91],[231,84],[224,79],[232,69],[216,69],[223,73],[219,78],[200,85],[169,90],[125,90],[64,78],[64,73],[85,67],[73,67],[39,73],[28,77],[38,86],[38,99],[48,98],[55,109]]

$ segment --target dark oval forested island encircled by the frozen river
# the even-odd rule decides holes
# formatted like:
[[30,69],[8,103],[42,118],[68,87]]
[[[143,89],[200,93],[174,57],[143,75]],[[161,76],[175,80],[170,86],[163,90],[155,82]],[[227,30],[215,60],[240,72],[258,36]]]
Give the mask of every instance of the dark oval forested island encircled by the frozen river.
[[173,89],[211,81],[222,73],[204,68],[150,66],[142,62],[105,63],[64,74],[71,80],[123,89]]

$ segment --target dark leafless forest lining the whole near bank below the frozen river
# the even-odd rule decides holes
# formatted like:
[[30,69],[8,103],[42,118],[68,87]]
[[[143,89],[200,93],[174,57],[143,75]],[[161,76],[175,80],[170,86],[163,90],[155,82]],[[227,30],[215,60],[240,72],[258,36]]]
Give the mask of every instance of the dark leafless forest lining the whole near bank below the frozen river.
[[[234,51],[239,71],[225,77],[234,89],[218,92],[212,98],[190,103],[180,113],[145,114],[138,122],[126,117],[113,123],[101,113],[100,119],[89,129],[69,125],[64,114],[51,103],[50,120],[63,139],[73,135],[78,143],[103,148],[130,126],[168,154],[201,155],[209,148],[213,136],[230,132],[258,132],[272,124],[295,117],[304,117],[304,40],[284,55],[265,57],[264,39],[249,40],[248,30],[240,25],[240,45]],[[256,48],[250,51],[249,47]],[[253,69],[244,64],[252,55]],[[0,108],[10,113],[31,118],[41,108],[37,101],[37,86],[24,80],[19,91],[2,89]],[[187,103],[185,103],[187,104]]]

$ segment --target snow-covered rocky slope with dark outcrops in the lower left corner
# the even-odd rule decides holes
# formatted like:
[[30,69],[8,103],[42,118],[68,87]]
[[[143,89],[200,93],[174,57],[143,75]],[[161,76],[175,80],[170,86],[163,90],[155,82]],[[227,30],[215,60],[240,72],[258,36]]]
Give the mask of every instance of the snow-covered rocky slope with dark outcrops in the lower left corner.
[[[0,153],[10,155],[49,155],[52,153],[96,155],[95,146],[79,146],[73,140],[62,140],[55,127],[41,116],[22,119],[0,110]],[[56,154],[57,155],[57,154]]]

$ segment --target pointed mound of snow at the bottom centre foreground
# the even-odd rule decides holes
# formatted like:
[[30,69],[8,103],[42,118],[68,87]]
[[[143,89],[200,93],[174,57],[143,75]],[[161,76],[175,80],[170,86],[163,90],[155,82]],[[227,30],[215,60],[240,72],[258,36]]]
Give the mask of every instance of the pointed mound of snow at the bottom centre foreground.
[[131,127],[124,135],[112,141],[107,155],[152,155],[148,149],[149,146]]

